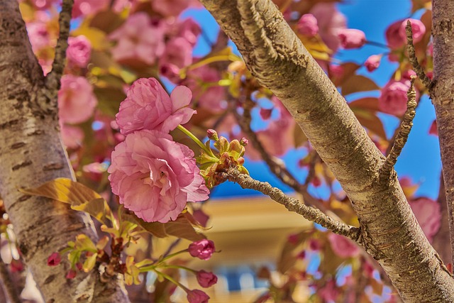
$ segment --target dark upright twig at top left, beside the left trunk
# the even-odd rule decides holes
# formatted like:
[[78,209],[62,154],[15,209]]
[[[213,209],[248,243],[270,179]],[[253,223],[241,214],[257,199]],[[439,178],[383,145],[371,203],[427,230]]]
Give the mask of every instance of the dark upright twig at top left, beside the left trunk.
[[48,96],[51,100],[57,97],[60,89],[60,79],[65,69],[66,50],[68,47],[68,37],[70,36],[71,12],[74,0],[63,0],[62,11],[58,18],[60,33],[58,35],[57,45],[55,46],[55,58],[52,62],[52,70],[45,77],[45,87],[48,89]]

